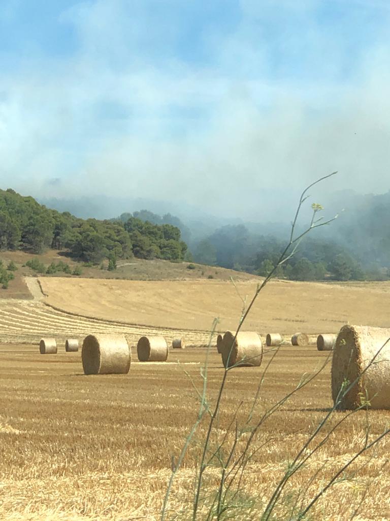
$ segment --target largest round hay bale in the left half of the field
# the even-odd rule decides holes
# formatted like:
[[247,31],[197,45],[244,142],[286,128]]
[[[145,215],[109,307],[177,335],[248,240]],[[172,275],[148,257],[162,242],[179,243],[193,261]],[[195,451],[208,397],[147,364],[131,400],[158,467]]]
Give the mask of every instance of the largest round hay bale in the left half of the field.
[[81,359],[86,375],[124,375],[130,369],[131,351],[122,334],[88,334]]

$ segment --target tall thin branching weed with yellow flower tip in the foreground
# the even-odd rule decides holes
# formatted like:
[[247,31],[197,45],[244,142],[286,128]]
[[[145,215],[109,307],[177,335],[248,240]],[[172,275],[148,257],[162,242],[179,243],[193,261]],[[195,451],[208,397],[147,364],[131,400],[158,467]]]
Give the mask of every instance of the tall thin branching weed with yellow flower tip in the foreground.
[[[313,210],[313,213],[309,225],[303,232],[296,233],[298,217],[300,216],[303,204],[309,197],[308,191],[321,181],[331,178],[336,173],[337,172],[333,172],[330,175],[318,179],[317,181],[311,183],[302,192],[297,205],[294,219],[291,224],[291,232],[288,243],[285,246],[282,253],[280,254],[278,262],[275,264],[274,268],[272,268],[269,274],[265,277],[264,281],[257,286],[256,291],[248,307],[246,307],[246,297],[244,299],[240,296],[243,304],[241,317],[236,329],[235,337],[232,340],[226,367],[219,384],[216,401],[214,405],[211,405],[207,397],[207,367],[209,364],[209,354],[212,345],[212,339],[217,326],[217,321],[214,320],[209,345],[206,351],[205,364],[201,371],[203,386],[202,392],[198,393],[199,410],[197,419],[191,428],[191,431],[185,441],[183,449],[181,450],[181,453],[178,456],[177,462],[175,462],[172,465],[172,474],[168,482],[164,503],[161,511],[161,521],[166,520],[168,512],[170,511],[168,504],[174,478],[181,466],[181,463],[184,460],[185,454],[193,439],[193,436],[197,432],[205,416],[207,416],[209,419],[207,420],[208,423],[206,424],[206,434],[202,442],[201,458],[197,467],[192,503],[192,514],[189,514],[187,512],[188,515],[186,516],[186,518],[192,519],[192,521],[197,521],[197,519],[202,519],[202,521],[203,519],[205,519],[206,521],[212,521],[214,519],[221,521],[237,518],[236,514],[238,514],[238,511],[240,509],[240,515],[243,514],[243,510],[245,511],[245,515],[250,515],[250,510],[253,506],[252,502],[245,502],[242,500],[242,481],[245,469],[248,468],[248,465],[251,463],[253,457],[257,454],[257,452],[263,449],[264,446],[266,446],[271,441],[275,441],[275,439],[268,439],[256,448],[254,447],[253,442],[255,441],[258,433],[261,431],[265,421],[267,421],[269,417],[272,416],[272,414],[278,411],[283,404],[290,400],[290,398],[296,392],[300,391],[302,388],[304,388],[310,382],[312,382],[321,373],[324,367],[326,367],[329,364],[331,360],[331,353],[329,353],[328,357],[325,359],[323,364],[314,372],[314,374],[304,375],[301,378],[301,381],[298,382],[297,386],[291,392],[283,396],[281,400],[272,404],[266,411],[262,413],[262,415],[256,421],[254,421],[254,414],[256,411],[256,406],[258,405],[258,400],[261,394],[261,388],[264,379],[272,362],[274,362],[279,348],[269,350],[268,353],[271,353],[271,357],[267,365],[265,366],[261,378],[258,382],[258,386],[253,396],[252,404],[249,408],[249,412],[246,416],[246,419],[243,421],[242,424],[239,424],[238,413],[241,411],[242,408],[242,402],[239,402],[236,406],[235,411],[233,411],[232,413],[231,421],[226,429],[225,434],[219,440],[217,439],[216,443],[213,443],[213,433],[215,434],[214,431],[216,430],[217,426],[216,424],[218,421],[221,402],[225,393],[226,382],[228,380],[230,371],[236,367],[236,365],[232,365],[229,367],[229,358],[231,356],[233,346],[235,345],[237,334],[239,333],[246,318],[248,317],[254,303],[257,300],[259,293],[261,293],[261,291],[265,288],[267,283],[275,276],[279,266],[282,266],[283,264],[287,263],[294,256],[303,238],[314,229],[319,228],[321,226],[329,225],[334,219],[337,218],[337,215],[329,220],[324,220],[323,217],[318,217],[318,213],[322,210],[322,206],[319,204],[312,204],[311,208]],[[236,286],[235,288],[238,292],[238,288]],[[390,341],[390,339],[387,340],[387,342],[388,341]],[[376,358],[379,356],[380,352],[387,344],[387,342],[385,342],[385,344],[381,347],[378,353],[376,353],[376,355],[371,360],[370,364],[368,364],[368,366],[366,367],[365,371],[367,371],[372,364],[376,363]],[[250,359],[248,359],[247,362],[250,362]],[[363,443],[361,449],[353,457],[351,457],[347,461],[347,463],[345,463],[340,469],[338,469],[326,483],[324,483],[324,485],[317,491],[313,498],[306,501],[305,503],[308,488],[310,484],[313,483],[316,477],[318,476],[319,470],[313,473],[313,475],[309,479],[309,483],[306,489],[298,493],[294,501],[290,501],[288,503],[287,509],[284,508],[283,517],[278,517],[276,512],[280,510],[280,507],[284,502],[283,493],[285,492],[285,488],[288,482],[291,480],[291,478],[294,475],[296,475],[296,473],[300,472],[301,469],[304,468],[304,466],[307,464],[310,458],[312,458],[324,446],[324,444],[328,442],[328,440],[334,434],[334,432],[338,428],[340,428],[350,416],[356,414],[360,410],[366,410],[368,414],[368,408],[370,406],[369,400],[362,400],[361,405],[357,407],[356,410],[344,414],[338,421],[336,421],[335,425],[332,428],[330,428],[330,430],[328,430],[327,434],[323,435],[324,427],[329,426],[330,418],[333,416],[336,409],[339,408],[344,396],[350,391],[350,389],[352,389],[353,386],[357,384],[357,381],[358,379],[356,379],[353,382],[344,382],[339,392],[339,396],[337,396],[337,399],[334,402],[333,407],[319,421],[318,425],[314,428],[313,432],[309,434],[307,440],[302,445],[302,448],[298,451],[293,460],[289,463],[287,470],[285,470],[285,473],[282,475],[274,490],[271,492],[268,502],[264,505],[264,508],[262,509],[261,516],[256,518],[261,519],[261,521],[276,521],[276,519],[283,519],[283,521],[285,521],[286,519],[290,519],[291,521],[298,521],[301,519],[308,519],[307,516],[311,508],[318,502],[322,495],[336,482],[340,482],[341,480],[346,479],[344,473],[348,469],[348,467],[352,465],[357,460],[357,458],[359,458],[359,456],[369,451],[371,448],[373,448],[373,446],[378,444],[385,436],[388,435],[390,429],[385,429],[380,436],[376,436],[372,440],[370,440],[370,429],[367,420],[365,442]],[[321,437],[320,434],[322,435]],[[204,476],[208,468],[215,468],[216,466],[220,469],[218,486],[217,490],[210,494],[206,490],[207,487],[204,484]],[[202,494],[204,497],[202,496]],[[201,518],[200,515],[202,516]]]

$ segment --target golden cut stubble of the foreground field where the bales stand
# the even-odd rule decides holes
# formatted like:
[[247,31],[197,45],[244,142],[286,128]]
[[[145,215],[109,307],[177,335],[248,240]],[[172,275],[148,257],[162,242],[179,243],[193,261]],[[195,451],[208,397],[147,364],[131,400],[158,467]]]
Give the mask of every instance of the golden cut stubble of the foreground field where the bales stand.
[[[204,354],[204,349],[175,351],[171,362],[181,364],[134,362],[128,375],[87,377],[82,374],[80,352],[49,359],[38,354],[36,346],[2,345],[0,518],[158,519],[171,457],[180,451],[196,416],[196,394],[184,371],[200,385]],[[265,380],[256,416],[327,356],[314,347],[281,348]],[[214,351],[209,374],[212,399],[222,371],[220,356]],[[262,368],[257,367],[230,373],[219,433],[224,432],[238,400],[243,401],[239,415],[243,417],[261,374]],[[327,367],[265,423],[255,446],[270,441],[254,457],[243,482],[244,493],[258,502],[256,508],[269,497],[287,462],[330,406]],[[334,415],[330,425],[340,414]],[[390,412],[372,411],[369,417],[372,433],[378,434],[388,425]],[[297,491],[324,466],[309,488],[308,497],[313,495],[321,480],[361,446],[364,426],[364,413],[347,421],[315,461],[292,480],[287,492]],[[203,433],[204,426],[197,440]],[[324,497],[313,519],[349,519],[366,491],[356,519],[388,519],[389,450],[390,439],[386,439],[371,458],[363,459],[366,466],[358,479],[336,485]],[[200,446],[195,443],[175,482],[171,507],[176,513],[190,509],[191,480],[199,456]],[[207,485],[215,488],[215,479],[215,471],[210,472]],[[237,519],[258,519],[259,511]]]

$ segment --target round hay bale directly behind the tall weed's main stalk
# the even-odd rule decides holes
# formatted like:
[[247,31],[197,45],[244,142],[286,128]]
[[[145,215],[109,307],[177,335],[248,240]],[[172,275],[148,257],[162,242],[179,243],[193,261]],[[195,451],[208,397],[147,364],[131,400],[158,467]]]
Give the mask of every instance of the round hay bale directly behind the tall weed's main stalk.
[[[263,360],[263,342],[256,331],[239,331],[233,344],[235,333],[226,331],[220,346],[224,367],[259,366]],[[230,353],[230,356],[229,356]]]

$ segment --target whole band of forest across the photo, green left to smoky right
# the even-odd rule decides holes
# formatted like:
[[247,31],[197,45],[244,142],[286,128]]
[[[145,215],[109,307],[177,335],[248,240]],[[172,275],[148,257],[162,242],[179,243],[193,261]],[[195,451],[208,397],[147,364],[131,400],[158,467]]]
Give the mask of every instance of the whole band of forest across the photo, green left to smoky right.
[[[330,227],[310,234],[277,275],[292,280],[385,280],[390,278],[390,193],[340,194],[330,212],[346,212]],[[199,227],[201,227],[201,223]],[[267,229],[272,233],[267,233]],[[194,261],[266,275],[285,246],[288,226],[243,223],[200,234],[180,218],[149,210],[109,220],[81,219],[0,190],[0,249],[67,250],[75,259],[100,263],[131,256]],[[201,238],[199,238],[201,237]],[[187,244],[189,249],[187,250]],[[189,251],[190,250],[190,251]]]

